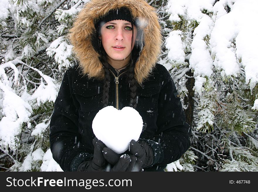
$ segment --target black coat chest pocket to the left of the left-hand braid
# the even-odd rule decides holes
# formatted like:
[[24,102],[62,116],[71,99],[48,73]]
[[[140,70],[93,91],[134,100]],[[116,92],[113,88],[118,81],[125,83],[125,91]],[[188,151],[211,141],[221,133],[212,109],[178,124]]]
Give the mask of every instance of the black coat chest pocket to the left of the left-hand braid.
[[73,94],[80,103],[82,112],[94,111],[99,108],[100,85],[87,87],[84,84],[75,84]]

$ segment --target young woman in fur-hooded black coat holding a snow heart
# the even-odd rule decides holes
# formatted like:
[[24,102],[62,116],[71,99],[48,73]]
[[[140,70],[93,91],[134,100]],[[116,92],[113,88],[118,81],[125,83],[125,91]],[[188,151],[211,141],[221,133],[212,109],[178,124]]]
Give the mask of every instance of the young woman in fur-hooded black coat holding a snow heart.
[[[50,122],[50,148],[60,167],[163,171],[178,160],[190,146],[191,128],[169,72],[156,63],[162,36],[155,9],[144,0],[89,1],[70,39],[79,65],[66,71]],[[91,127],[108,105],[133,107],[144,122],[124,155],[106,148]],[[113,123],[123,126],[115,116]]]

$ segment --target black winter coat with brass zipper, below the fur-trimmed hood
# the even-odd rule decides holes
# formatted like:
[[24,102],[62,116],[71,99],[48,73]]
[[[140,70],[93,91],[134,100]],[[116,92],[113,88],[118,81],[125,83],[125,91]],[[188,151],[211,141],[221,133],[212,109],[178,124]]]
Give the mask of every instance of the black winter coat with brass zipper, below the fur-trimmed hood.
[[[129,85],[125,83],[127,69],[119,72],[116,84],[117,73],[110,68],[109,105],[122,109],[130,101]],[[103,80],[83,76],[78,66],[65,72],[50,122],[50,149],[64,171],[75,171],[81,162],[92,158],[95,135],[91,125],[103,107],[102,91]],[[156,64],[137,93],[136,110],[144,122],[140,138],[155,151],[154,165],[145,171],[161,170],[189,148],[191,128],[185,122],[179,94],[164,66]]]

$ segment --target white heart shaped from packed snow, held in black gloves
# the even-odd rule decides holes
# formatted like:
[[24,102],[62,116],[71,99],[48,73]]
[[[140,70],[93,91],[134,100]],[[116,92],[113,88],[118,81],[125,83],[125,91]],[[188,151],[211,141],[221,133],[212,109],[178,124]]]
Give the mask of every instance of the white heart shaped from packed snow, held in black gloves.
[[99,140],[120,154],[129,148],[132,139],[139,139],[142,125],[142,117],[134,108],[117,110],[113,106],[107,106],[94,117],[92,129]]

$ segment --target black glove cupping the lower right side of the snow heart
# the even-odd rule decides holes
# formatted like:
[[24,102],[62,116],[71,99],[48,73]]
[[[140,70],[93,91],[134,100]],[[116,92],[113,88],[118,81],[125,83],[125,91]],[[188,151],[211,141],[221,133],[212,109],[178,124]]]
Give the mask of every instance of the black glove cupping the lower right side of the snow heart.
[[153,164],[154,154],[152,148],[143,140],[139,142],[132,140],[129,143],[129,151],[142,162],[142,168]]

